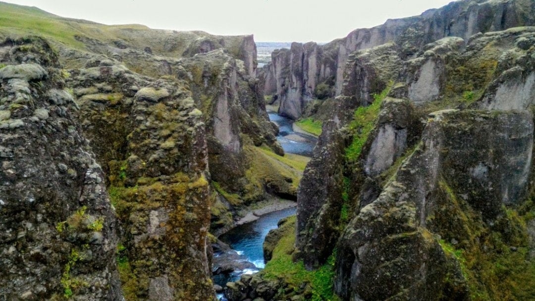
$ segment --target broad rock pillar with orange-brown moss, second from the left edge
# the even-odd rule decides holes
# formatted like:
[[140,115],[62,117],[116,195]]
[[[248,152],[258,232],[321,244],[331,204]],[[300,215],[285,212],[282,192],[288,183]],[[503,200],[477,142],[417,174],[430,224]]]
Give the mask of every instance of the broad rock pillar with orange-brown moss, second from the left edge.
[[203,114],[182,81],[94,60],[68,70],[66,80],[83,132],[108,172],[124,233],[117,255],[124,297],[211,299]]

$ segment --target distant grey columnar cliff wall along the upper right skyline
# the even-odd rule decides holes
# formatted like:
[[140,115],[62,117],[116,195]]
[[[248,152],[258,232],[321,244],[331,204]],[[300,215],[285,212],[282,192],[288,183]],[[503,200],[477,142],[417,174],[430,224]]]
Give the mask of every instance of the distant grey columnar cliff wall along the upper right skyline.
[[[533,16],[535,7],[529,0],[457,1],[420,16],[356,29],[325,45],[295,43],[289,52],[274,52],[271,63],[264,67],[264,94],[280,101],[280,114],[297,119],[311,99],[342,94],[346,62],[356,50],[394,42],[402,57],[412,57],[424,45],[443,37],[468,41],[477,33],[533,26]],[[286,52],[290,59],[281,60],[280,53]]]

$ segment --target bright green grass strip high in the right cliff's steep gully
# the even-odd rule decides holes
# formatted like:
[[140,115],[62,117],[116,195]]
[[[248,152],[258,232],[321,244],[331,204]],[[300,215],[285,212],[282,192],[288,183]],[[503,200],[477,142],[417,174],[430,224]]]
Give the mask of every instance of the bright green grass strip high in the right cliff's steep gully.
[[392,84],[389,84],[381,94],[373,95],[373,103],[369,106],[361,106],[355,110],[353,121],[349,123],[349,130],[354,133],[353,141],[346,149],[346,159],[349,162],[355,162],[361,155],[362,147],[368,140],[368,136],[379,117],[381,103],[383,103],[391,87]]

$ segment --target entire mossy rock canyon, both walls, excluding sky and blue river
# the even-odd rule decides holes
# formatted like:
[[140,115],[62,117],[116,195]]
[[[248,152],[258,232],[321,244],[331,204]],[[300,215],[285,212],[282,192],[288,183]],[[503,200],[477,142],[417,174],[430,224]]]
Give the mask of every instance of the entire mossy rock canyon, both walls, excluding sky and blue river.
[[533,1],[263,67],[252,35],[0,14],[0,300],[215,300],[218,237],[279,199],[229,301],[535,299]]

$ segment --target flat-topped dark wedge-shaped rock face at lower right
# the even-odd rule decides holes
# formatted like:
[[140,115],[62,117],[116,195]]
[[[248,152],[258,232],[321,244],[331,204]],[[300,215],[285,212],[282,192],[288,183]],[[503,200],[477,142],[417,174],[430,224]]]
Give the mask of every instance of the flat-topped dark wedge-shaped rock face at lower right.
[[[488,278],[472,279],[461,254],[483,259],[492,253],[480,249],[476,237],[501,233],[488,225],[501,219],[504,206],[523,204],[528,196],[532,143],[528,112],[433,113],[421,146],[346,227],[338,244],[337,293],[344,299],[440,300],[454,292],[454,299],[468,300],[481,291],[501,296]],[[512,157],[497,155],[506,150]],[[526,168],[519,171],[516,160]],[[525,230],[511,235],[526,239]],[[449,249],[449,243],[457,246]],[[474,287],[482,279],[484,288]]]

